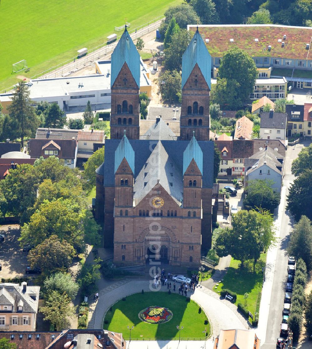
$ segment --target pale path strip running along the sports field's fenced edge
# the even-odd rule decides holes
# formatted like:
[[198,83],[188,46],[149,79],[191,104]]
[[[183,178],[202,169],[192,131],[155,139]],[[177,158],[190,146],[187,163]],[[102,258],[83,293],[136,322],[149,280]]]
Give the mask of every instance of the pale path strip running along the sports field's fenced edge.
[[[164,15],[161,15],[159,17],[154,18],[154,20],[149,21],[147,23],[144,23],[142,25],[140,25],[139,27],[136,27],[132,30],[128,30],[131,38],[133,40],[137,39],[138,37],[141,37],[143,35],[146,35],[148,33],[150,33],[151,31],[157,29],[159,27],[159,25],[163,22],[164,20]],[[145,29],[144,29],[145,28]],[[122,34],[121,34],[122,35]],[[38,79],[38,77],[43,76],[45,79],[48,78],[52,78],[52,77],[57,77],[57,76],[67,76],[70,75],[72,73],[74,73],[75,71],[83,68],[84,66],[88,66],[91,65],[93,61],[100,59],[101,57],[104,57],[105,55],[107,55],[108,53],[113,52],[113,50],[115,49],[118,40],[121,38],[121,35],[117,36],[117,41],[107,45],[107,43],[103,43],[101,45],[98,45],[96,47],[93,47],[92,49],[88,50],[88,55],[87,57],[84,58],[70,58],[54,67],[51,67],[47,70],[44,70],[43,72],[40,72],[34,76],[31,76],[30,79]],[[90,55],[91,53],[93,53],[92,55]],[[71,64],[72,63],[72,64]],[[70,64],[70,65],[69,65]],[[55,71],[57,70],[57,71]],[[53,72],[52,74],[50,74],[51,72]],[[15,85],[10,86],[9,88],[7,88],[6,90],[12,90],[14,88]],[[6,90],[2,90],[1,92],[4,92]]]

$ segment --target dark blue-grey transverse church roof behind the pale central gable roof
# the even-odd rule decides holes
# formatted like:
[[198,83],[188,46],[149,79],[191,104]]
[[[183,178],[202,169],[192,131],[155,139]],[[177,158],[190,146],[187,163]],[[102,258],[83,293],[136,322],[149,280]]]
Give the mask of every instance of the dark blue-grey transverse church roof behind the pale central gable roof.
[[[168,157],[172,160],[173,165],[179,171],[180,176],[183,176],[183,153],[188,145],[188,141],[160,141]],[[118,139],[109,139],[105,142],[105,162],[104,169],[100,166],[97,173],[101,172],[104,175],[104,186],[115,185],[115,151],[120,143]],[[134,151],[134,178],[138,176],[141,169],[148,162],[153,149],[150,149],[149,140],[129,140]],[[214,143],[212,141],[198,141],[198,144],[203,153],[203,187],[213,187],[213,158],[214,158]]]

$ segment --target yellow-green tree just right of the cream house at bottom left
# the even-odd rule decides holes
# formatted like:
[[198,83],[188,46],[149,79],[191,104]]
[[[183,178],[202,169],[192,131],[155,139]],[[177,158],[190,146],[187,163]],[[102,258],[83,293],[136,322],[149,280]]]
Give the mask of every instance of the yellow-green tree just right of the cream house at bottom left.
[[40,312],[44,314],[44,319],[49,320],[55,326],[56,331],[68,327],[68,318],[76,315],[77,306],[70,305],[70,298],[66,294],[60,295],[57,291],[52,291],[45,305],[40,307]]

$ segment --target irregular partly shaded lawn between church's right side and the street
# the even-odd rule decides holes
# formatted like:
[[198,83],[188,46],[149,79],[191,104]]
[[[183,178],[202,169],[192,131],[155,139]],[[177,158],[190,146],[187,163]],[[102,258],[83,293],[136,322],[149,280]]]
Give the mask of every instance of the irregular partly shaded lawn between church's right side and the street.
[[267,255],[262,253],[260,260],[257,262],[256,271],[253,272],[252,261],[245,264],[244,269],[240,269],[240,261],[232,258],[228,272],[224,276],[223,282],[220,282],[213,291],[218,292],[221,289],[228,289],[237,293],[235,304],[242,303],[244,305],[244,294],[248,293],[247,309],[254,314],[259,313],[261,291],[262,291],[262,267],[265,266]]

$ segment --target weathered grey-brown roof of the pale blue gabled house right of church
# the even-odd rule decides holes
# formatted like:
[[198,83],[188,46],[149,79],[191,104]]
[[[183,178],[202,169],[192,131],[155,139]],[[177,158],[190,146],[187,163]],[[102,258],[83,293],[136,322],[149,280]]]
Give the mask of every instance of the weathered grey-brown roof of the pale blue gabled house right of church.
[[[249,166],[250,164],[252,165],[249,169],[247,169],[246,171],[247,175],[252,173],[256,169],[259,169],[263,165],[269,166],[270,169],[272,169],[273,171],[279,174],[283,173],[285,158],[284,156],[278,154],[277,151],[272,150],[270,147],[267,147],[258,151],[258,153],[252,155],[250,158],[255,160],[256,162],[254,164],[252,164],[252,161],[249,162]],[[280,167],[281,169],[278,169],[277,166]],[[245,168],[246,168],[246,163],[245,163]]]

